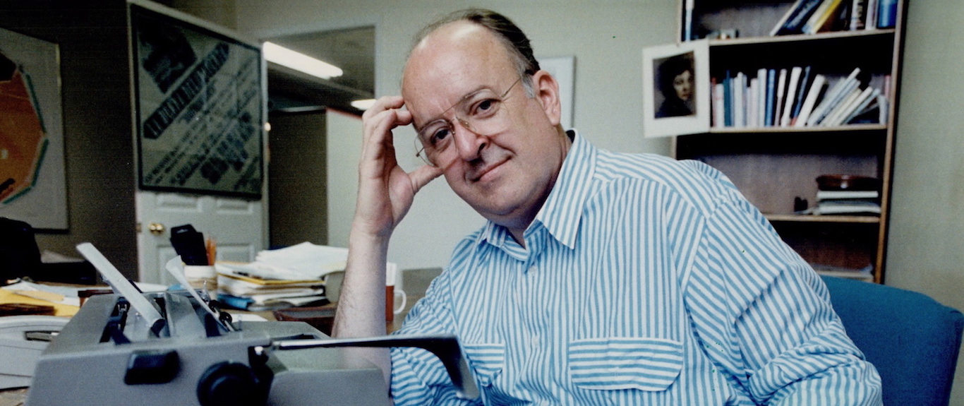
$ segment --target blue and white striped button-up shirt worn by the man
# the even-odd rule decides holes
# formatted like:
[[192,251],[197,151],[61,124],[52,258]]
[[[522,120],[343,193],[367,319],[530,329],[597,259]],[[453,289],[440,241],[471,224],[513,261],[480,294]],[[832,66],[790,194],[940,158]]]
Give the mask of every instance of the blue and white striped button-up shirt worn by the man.
[[[398,333],[454,333],[491,405],[875,405],[817,274],[719,172],[576,136],[525,247],[466,237]],[[393,348],[399,405],[462,404]]]

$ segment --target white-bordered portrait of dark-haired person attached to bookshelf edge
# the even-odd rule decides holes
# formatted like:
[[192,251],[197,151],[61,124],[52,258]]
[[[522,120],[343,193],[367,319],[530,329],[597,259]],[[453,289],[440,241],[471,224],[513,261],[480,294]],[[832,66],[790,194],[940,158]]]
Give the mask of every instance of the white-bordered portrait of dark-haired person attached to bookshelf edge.
[[643,49],[643,135],[710,130],[710,47],[687,41]]

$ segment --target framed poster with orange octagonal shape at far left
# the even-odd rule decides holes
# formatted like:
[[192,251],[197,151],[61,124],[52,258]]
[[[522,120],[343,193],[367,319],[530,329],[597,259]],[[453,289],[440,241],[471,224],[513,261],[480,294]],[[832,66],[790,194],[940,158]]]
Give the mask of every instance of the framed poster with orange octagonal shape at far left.
[[0,217],[67,230],[60,50],[0,29]]

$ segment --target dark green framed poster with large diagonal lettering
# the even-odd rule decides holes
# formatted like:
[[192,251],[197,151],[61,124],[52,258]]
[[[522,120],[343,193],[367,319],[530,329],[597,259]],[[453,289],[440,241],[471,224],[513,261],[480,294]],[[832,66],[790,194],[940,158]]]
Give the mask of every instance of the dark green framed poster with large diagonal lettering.
[[130,6],[141,189],[259,199],[260,50]]

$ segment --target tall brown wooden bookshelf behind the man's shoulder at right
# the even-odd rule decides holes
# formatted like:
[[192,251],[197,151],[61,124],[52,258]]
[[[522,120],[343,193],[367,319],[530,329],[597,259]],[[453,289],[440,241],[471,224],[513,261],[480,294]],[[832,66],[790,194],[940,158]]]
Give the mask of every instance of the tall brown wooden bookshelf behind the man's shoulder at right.
[[[849,30],[848,25],[850,10],[862,8],[867,15],[868,3],[887,1],[840,0],[840,8],[831,17],[837,22],[826,23],[825,31],[772,36],[790,10],[808,0],[682,0],[678,45],[706,42],[709,62],[703,66],[709,67],[710,84],[695,88],[712,95],[708,105],[698,105],[697,109],[707,108],[712,113],[700,119],[708,121],[705,130],[676,134],[672,143],[676,158],[704,161],[729,176],[818,272],[876,283],[883,283],[886,265],[903,2],[897,1],[892,26]],[[810,82],[801,87],[806,67],[810,67]],[[804,93],[800,101],[788,97],[793,68],[801,68],[795,82],[795,89]],[[766,75],[774,76],[772,89],[780,83],[779,72],[786,69],[784,96],[793,117],[798,116],[794,104],[802,104],[809,95],[808,87],[817,73],[825,84],[815,99],[814,113],[834,86],[855,68],[860,69],[857,90],[850,89],[845,95],[842,92],[844,101],[838,103],[843,110],[850,97],[852,114],[842,111],[830,120],[831,113],[827,113],[823,121],[813,125],[794,126],[792,121],[781,122],[782,110],[774,108],[768,113],[771,122],[764,123],[765,116],[761,115],[767,114]],[[743,80],[738,86],[734,84],[737,73],[742,73]],[[716,91],[723,89],[728,78],[730,98],[721,102],[722,94]],[[860,94],[868,88],[861,99]],[[736,92],[741,92],[738,100],[734,100]],[[799,92],[794,92],[794,98]],[[859,103],[862,100],[868,100],[864,107]],[[745,106],[744,111],[734,112],[735,101]],[[863,114],[858,108],[863,108]],[[755,111],[750,113],[749,109]],[[729,120],[726,115],[730,115]],[[737,115],[741,116],[738,122]],[[817,204],[816,178],[827,174],[879,179],[880,213],[802,214],[812,212],[804,208],[813,210]]]

